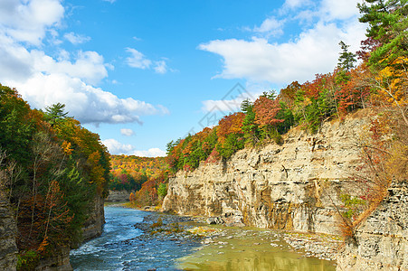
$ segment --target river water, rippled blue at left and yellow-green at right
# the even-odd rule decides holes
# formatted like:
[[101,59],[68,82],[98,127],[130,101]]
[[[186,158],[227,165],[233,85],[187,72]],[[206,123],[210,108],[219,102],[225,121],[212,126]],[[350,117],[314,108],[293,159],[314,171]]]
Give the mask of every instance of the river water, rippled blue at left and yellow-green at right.
[[332,261],[293,251],[269,230],[218,227],[221,234],[217,237],[180,241],[173,235],[144,234],[134,227],[151,214],[119,206],[105,207],[102,235],[71,250],[74,270],[336,269]]

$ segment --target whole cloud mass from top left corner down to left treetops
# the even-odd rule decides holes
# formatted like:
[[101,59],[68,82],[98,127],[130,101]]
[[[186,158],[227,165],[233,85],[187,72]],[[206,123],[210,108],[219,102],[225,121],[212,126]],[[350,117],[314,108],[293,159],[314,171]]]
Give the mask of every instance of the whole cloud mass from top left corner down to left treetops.
[[[37,108],[61,102],[82,123],[142,124],[139,116],[166,114],[168,109],[134,98],[119,98],[95,87],[108,77],[111,64],[96,51],[69,52],[55,57],[41,50],[46,33],[58,36],[64,9],[55,0],[0,1],[0,81],[18,89]],[[86,37],[68,33],[72,43]],[[26,43],[30,46],[26,46]],[[30,49],[28,49],[30,48]]]

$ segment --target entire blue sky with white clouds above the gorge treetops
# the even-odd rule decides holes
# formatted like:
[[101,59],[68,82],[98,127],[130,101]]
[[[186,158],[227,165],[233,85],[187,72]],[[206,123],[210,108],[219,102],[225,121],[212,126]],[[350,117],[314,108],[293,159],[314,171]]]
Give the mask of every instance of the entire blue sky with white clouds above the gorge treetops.
[[65,104],[110,154],[158,156],[243,99],[358,51],[360,0],[0,0],[0,83]]

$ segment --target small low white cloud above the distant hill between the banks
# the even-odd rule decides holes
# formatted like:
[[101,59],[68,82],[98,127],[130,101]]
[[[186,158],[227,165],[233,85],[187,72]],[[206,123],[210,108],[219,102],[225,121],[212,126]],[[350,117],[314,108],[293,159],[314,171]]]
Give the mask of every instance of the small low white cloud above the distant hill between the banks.
[[166,152],[159,148],[150,148],[147,151],[137,150],[135,146],[121,144],[118,140],[113,138],[102,140],[102,144],[108,148],[110,154],[126,154],[145,157],[166,156]]

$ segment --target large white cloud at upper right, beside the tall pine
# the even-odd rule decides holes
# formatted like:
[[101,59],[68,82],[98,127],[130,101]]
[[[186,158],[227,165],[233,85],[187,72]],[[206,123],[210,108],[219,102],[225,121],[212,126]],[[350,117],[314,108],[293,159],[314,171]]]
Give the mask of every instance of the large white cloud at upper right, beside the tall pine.
[[[351,45],[352,51],[356,51],[359,42],[365,38],[365,26],[358,23],[354,15],[356,0],[347,0],[350,2],[348,9],[338,11],[337,14],[332,9],[327,10],[325,3],[330,1],[323,0],[320,3],[318,22],[293,40],[281,43],[254,37],[250,40],[214,40],[200,44],[198,49],[211,51],[223,58],[223,70],[215,78],[249,79],[275,84],[312,79],[316,73],[331,71],[336,66],[338,42],[344,41]],[[354,5],[351,5],[352,2]],[[300,5],[296,1],[287,3],[293,7]],[[337,23],[335,20],[340,18],[347,20]],[[273,20],[263,27],[262,24],[260,31],[268,31],[278,25]]]

